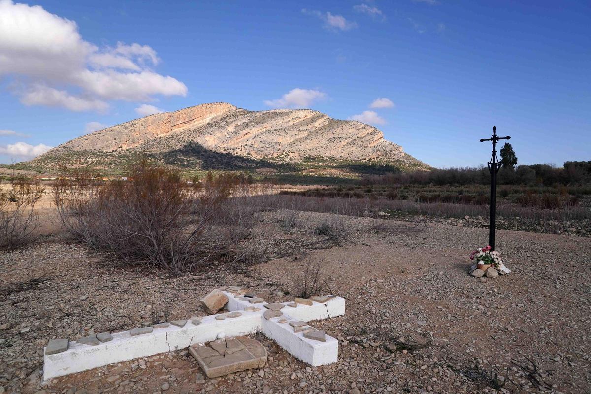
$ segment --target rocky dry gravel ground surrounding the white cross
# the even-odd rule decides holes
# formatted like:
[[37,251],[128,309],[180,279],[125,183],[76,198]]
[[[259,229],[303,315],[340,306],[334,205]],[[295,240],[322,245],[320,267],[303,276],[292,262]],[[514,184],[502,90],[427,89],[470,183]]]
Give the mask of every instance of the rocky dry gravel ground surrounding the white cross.
[[[467,255],[486,243],[485,229],[301,213],[285,233],[288,215],[265,213],[258,237],[290,253],[245,273],[216,266],[170,278],[60,236],[2,252],[0,393],[591,391],[591,239],[500,230],[514,272],[481,282],[467,274]],[[338,237],[314,235],[323,220]],[[50,338],[203,314],[198,300],[220,285],[284,301],[308,262],[347,300],[345,316],[312,323],[339,339],[335,364],[309,367],[256,336],[269,352],[258,371],[204,379],[180,350],[40,385]]]

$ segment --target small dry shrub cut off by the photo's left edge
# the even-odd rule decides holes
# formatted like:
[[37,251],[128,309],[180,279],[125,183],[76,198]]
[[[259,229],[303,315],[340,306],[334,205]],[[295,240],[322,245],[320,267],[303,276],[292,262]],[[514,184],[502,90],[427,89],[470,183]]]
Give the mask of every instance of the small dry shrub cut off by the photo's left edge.
[[43,196],[37,181],[17,178],[9,190],[0,189],[0,249],[14,249],[30,240],[39,220],[35,204]]

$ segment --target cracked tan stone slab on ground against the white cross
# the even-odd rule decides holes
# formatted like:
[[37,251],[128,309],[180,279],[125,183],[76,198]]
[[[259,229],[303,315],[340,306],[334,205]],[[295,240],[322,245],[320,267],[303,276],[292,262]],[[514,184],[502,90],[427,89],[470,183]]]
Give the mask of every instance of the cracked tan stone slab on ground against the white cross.
[[267,363],[267,350],[248,337],[236,337],[189,347],[207,377],[214,378],[247,369],[258,369]]

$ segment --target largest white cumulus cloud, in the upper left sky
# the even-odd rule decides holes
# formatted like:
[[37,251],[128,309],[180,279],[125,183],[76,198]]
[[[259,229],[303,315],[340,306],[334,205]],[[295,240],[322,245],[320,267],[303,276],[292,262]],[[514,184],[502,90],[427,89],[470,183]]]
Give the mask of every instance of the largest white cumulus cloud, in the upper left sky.
[[185,96],[187,86],[149,67],[160,59],[148,45],[102,47],[83,40],[76,22],[41,6],[0,0],[0,76],[25,105],[105,111],[110,100]]

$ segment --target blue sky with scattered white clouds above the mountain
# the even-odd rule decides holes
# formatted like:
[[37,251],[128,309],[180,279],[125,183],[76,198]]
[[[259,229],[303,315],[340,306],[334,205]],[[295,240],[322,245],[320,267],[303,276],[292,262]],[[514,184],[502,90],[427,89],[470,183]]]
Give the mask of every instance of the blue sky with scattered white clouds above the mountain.
[[369,123],[439,168],[591,159],[591,2],[0,0],[0,162],[209,102]]

